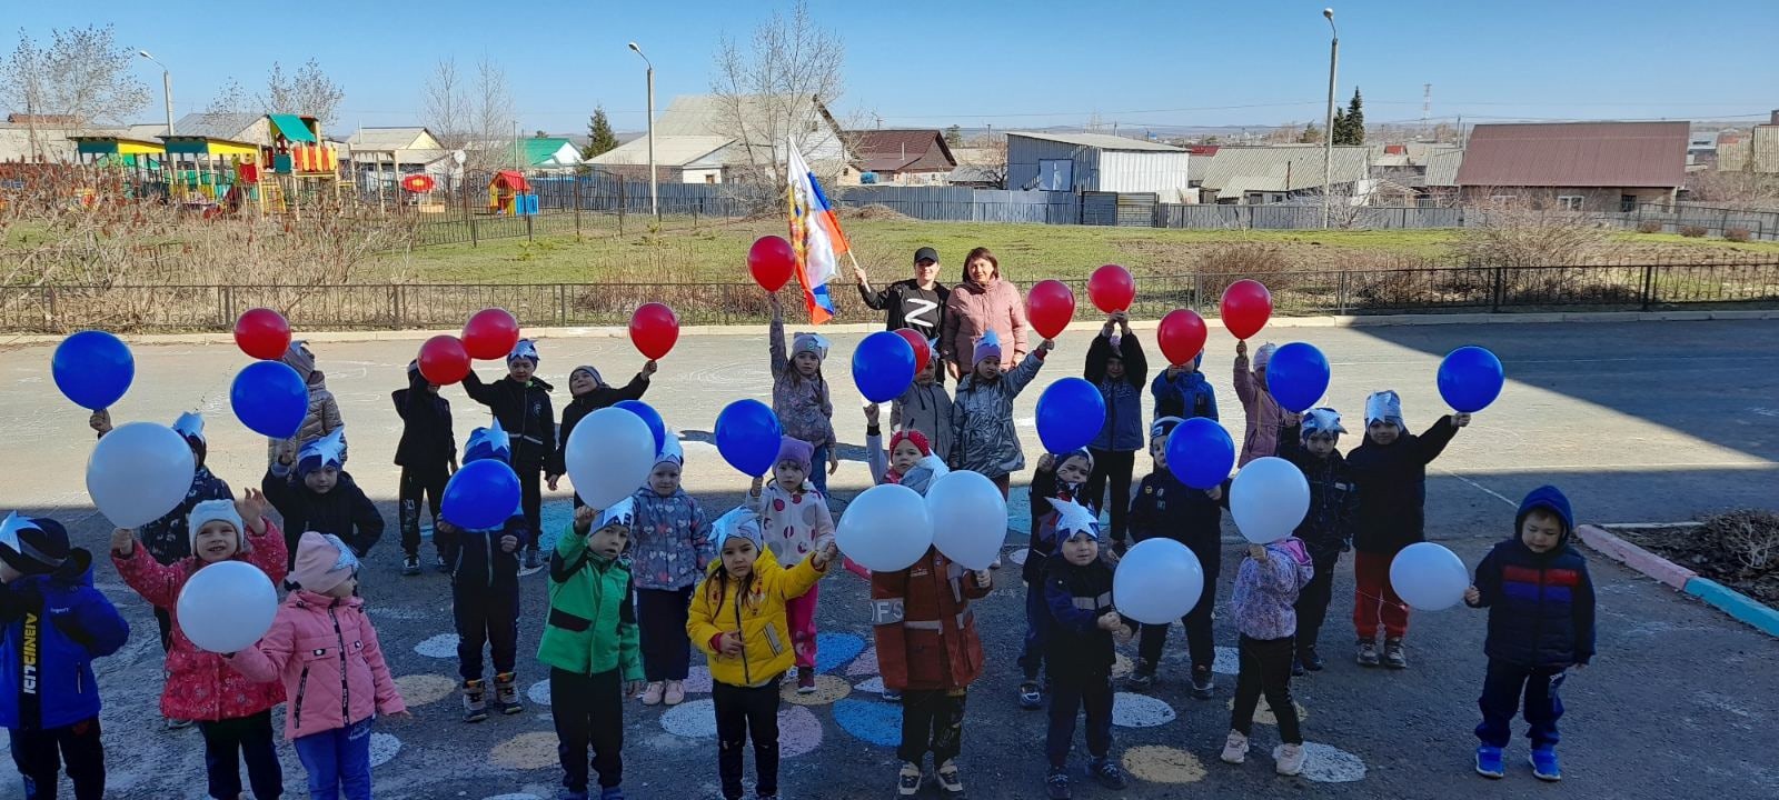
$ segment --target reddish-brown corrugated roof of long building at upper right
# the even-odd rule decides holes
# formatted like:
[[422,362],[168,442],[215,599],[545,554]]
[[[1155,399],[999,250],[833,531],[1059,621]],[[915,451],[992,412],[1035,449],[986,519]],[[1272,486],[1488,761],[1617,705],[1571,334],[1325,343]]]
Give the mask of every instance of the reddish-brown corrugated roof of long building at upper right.
[[1690,123],[1514,123],[1471,128],[1461,187],[1679,187]]

